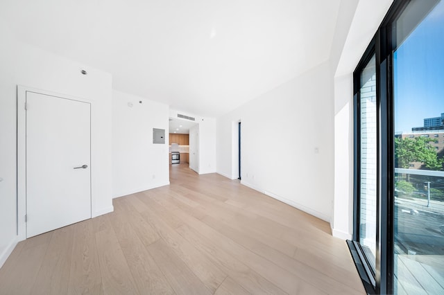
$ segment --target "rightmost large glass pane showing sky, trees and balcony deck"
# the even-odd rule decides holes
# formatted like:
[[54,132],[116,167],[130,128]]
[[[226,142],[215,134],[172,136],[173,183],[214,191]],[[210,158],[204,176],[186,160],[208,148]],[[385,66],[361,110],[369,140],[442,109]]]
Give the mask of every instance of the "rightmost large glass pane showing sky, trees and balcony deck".
[[422,9],[393,27],[395,294],[444,294],[444,1]]

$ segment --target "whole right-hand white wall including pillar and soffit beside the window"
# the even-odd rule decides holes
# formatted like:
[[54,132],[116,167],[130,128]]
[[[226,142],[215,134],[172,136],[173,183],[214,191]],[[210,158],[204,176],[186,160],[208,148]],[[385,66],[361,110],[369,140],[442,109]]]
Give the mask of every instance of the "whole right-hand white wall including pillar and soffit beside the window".
[[241,120],[242,183],[330,221],[334,236],[351,238],[352,72],[391,2],[341,1],[329,61],[218,118],[217,172],[237,178],[234,124]]

